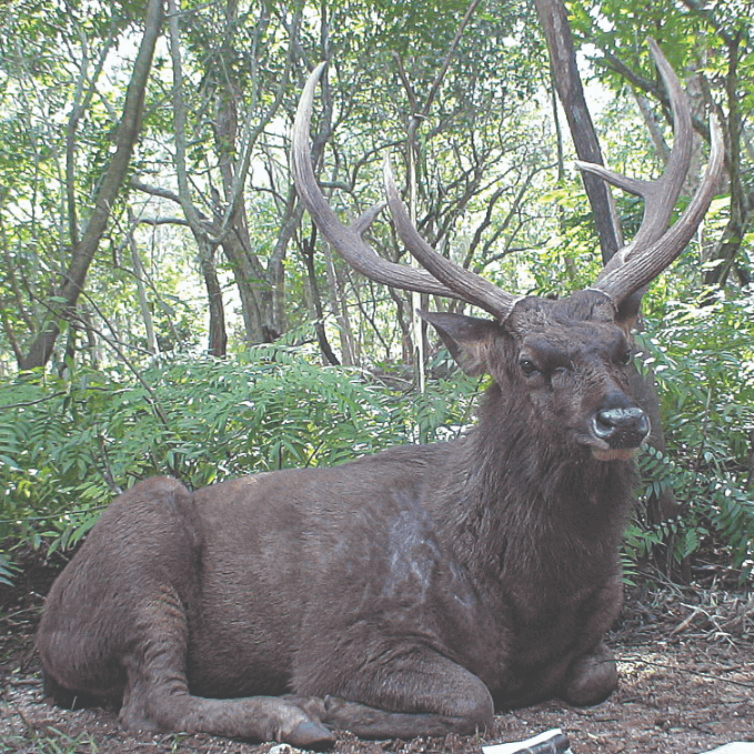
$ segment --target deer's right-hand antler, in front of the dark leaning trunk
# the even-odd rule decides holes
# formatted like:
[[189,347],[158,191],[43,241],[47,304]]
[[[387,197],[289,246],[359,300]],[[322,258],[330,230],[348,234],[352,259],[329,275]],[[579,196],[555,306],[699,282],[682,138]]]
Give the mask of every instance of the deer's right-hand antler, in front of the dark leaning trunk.
[[723,137],[713,117],[710,161],[702,182],[681,218],[667,229],[691,164],[693,130],[688,98],[653,39],[650,39],[650,51],[670,94],[673,112],[674,141],[665,172],[654,181],[642,181],[602,165],[577,162],[582,170],[644,199],[644,218],[636,235],[605,264],[592,286],[607,294],[616,305],[650,283],[684,250],[715,195],[724,162]]

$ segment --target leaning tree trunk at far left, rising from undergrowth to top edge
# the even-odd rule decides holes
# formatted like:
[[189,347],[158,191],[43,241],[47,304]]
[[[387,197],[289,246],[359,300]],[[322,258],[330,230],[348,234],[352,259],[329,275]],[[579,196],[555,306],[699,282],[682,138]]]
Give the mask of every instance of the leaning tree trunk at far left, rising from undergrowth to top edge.
[[64,316],[67,311],[76,306],[83,289],[89,267],[104,234],[118,193],[125,180],[133,147],[141,131],[144,92],[152,68],[154,46],[162,27],[162,0],[149,0],[144,19],[144,34],[133,64],[133,74],[125,93],[123,115],[115,134],[115,151],[100,183],[87,228],[81,240],[73,247],[71,261],[63,281],[48,302],[51,315],[42,323],[40,332],[30,344],[27,353],[19,360],[19,369],[21,370],[44,366],[48,363],[60,334],[58,318]]

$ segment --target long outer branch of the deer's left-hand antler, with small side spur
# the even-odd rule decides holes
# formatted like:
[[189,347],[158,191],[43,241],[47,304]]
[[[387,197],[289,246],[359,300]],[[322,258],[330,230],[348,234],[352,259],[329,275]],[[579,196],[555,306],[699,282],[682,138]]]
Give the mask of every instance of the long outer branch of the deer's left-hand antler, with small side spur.
[[314,101],[314,90],[325,63],[320,63],[310,74],[299,101],[291,133],[291,170],[299,197],[322,234],[338,253],[358,272],[370,280],[409,291],[459,299],[461,295],[438,282],[424,270],[395,264],[380,257],[364,241],[362,233],[374,220],[382,205],[364,212],[351,225],[344,225],[332,211],[316,184],[312,170],[309,128]]

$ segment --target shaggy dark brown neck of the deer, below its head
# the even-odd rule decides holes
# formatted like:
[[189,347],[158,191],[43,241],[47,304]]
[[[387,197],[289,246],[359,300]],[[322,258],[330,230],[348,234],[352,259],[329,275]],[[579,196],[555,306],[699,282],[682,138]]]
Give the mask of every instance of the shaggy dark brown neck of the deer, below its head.
[[597,461],[556,432],[545,442],[521,404],[507,404],[496,386],[480,416],[443,495],[450,537],[469,567],[496,569],[501,554],[513,551],[531,562],[530,551],[579,542],[614,550],[632,503],[632,462]]

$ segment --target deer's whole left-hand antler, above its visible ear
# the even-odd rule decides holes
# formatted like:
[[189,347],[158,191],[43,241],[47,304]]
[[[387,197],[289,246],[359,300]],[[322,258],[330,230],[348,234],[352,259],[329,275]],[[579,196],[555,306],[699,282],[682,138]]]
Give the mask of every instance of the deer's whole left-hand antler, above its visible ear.
[[362,233],[382,210],[378,204],[364,212],[350,225],[345,225],[332,211],[320,191],[312,170],[309,128],[314,100],[314,89],[324,70],[320,63],[310,74],[301,94],[291,134],[291,169],[301,201],[316,227],[333,244],[338,253],[354,269],[371,280],[408,291],[419,291],[452,299],[460,299],[481,306],[489,313],[504,319],[515,303],[515,298],[469,270],[450,262],[434,251],[411,224],[408,212],[398,197],[390,167],[385,168],[388,201],[395,227],[409,251],[425,270],[395,264],[380,257],[364,241]]

